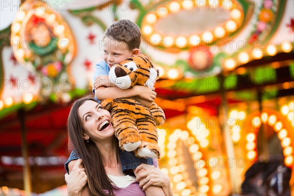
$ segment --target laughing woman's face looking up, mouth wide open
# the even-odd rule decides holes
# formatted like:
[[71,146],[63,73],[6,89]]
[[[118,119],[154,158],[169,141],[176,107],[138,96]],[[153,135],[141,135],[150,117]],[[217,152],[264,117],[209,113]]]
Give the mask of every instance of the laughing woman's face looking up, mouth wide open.
[[79,108],[78,115],[82,121],[85,134],[93,141],[109,139],[114,135],[111,115],[98,102],[86,100]]

